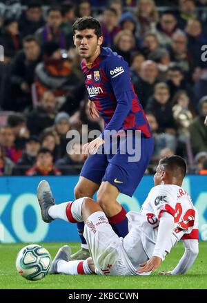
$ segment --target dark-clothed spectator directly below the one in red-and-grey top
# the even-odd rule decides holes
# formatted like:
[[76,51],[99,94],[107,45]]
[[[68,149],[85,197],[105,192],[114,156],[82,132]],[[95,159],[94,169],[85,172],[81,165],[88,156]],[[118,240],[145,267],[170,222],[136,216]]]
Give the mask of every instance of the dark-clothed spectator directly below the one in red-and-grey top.
[[31,135],[39,136],[46,127],[54,124],[56,111],[55,96],[52,92],[45,92],[37,105],[27,116],[27,125]]

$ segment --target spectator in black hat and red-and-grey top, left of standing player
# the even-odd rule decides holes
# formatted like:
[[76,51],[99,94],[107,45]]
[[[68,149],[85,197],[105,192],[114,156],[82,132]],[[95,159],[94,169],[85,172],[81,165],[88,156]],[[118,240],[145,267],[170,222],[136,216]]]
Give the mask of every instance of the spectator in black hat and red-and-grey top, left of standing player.
[[60,105],[66,102],[66,94],[75,92],[77,76],[72,72],[72,63],[64,59],[56,42],[48,42],[43,48],[44,61],[37,65],[35,75],[36,87],[39,98],[47,90],[52,90],[55,96],[59,96]]

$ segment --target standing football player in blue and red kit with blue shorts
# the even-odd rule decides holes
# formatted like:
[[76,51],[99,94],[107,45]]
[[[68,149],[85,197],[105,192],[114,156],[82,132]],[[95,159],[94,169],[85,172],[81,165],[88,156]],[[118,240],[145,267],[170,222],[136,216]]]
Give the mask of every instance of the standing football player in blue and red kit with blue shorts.
[[[102,116],[105,123],[103,134],[83,147],[89,156],[75,187],[75,198],[92,198],[97,191],[97,202],[112,228],[118,236],[124,237],[128,233],[128,219],[125,209],[117,202],[117,196],[120,192],[132,196],[139,185],[152,156],[152,135],[130,80],[128,63],[110,48],[101,47],[103,36],[99,21],[92,17],[77,19],[73,33],[77,52],[83,59],[81,68],[88,90],[90,112],[92,116]],[[130,138],[128,130],[132,130]],[[116,154],[97,153],[104,147],[107,131],[124,132],[125,144],[131,140],[134,149],[139,144],[139,160],[128,160],[132,156],[128,151],[121,153],[120,142],[123,140],[118,140]],[[135,136],[135,131],[139,131],[141,136]],[[75,260],[88,257],[83,229],[81,222],[78,230],[82,245],[81,250],[72,255]]]

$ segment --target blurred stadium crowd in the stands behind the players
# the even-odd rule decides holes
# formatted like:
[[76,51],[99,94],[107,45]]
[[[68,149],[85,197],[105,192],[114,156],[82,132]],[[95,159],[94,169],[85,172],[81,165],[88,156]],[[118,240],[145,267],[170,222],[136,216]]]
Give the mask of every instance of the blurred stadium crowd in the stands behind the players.
[[11,0],[0,1],[0,176],[79,174],[86,156],[66,151],[67,132],[103,130],[72,41],[83,16],[99,19],[103,46],[130,66],[155,139],[146,174],[172,154],[207,174],[207,0]]

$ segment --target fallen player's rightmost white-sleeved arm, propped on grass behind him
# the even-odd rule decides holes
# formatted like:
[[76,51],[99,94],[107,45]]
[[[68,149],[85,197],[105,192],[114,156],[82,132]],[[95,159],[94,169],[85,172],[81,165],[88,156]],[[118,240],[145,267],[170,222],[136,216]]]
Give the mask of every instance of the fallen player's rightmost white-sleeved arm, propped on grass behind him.
[[161,272],[161,275],[183,275],[192,267],[199,253],[199,242],[195,239],[184,240],[185,252],[182,255],[177,267],[172,271]]

